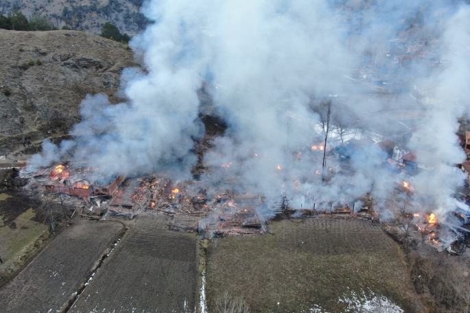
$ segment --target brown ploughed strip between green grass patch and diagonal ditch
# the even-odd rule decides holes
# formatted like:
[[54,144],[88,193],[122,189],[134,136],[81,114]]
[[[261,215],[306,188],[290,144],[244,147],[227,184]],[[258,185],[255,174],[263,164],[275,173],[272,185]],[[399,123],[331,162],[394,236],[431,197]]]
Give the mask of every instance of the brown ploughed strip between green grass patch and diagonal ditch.
[[[1,312],[56,312],[92,273],[121,223],[75,219],[12,281],[0,288]],[[50,310],[50,311],[49,311]]]

